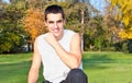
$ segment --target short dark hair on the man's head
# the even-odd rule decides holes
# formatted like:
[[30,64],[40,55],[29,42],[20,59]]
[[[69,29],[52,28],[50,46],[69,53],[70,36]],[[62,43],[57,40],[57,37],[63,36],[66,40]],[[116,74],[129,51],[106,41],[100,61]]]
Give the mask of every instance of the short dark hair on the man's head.
[[50,13],[54,13],[54,14],[62,13],[63,19],[65,19],[64,10],[61,5],[53,4],[53,5],[47,7],[44,12],[45,21],[47,21],[47,14],[50,14]]

